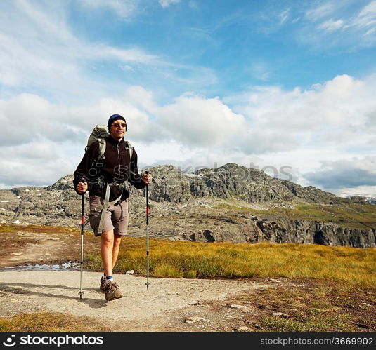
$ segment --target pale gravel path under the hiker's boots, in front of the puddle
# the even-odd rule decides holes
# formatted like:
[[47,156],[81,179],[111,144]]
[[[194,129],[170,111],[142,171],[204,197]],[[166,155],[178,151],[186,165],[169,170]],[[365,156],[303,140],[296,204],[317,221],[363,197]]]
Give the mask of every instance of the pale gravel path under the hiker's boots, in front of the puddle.
[[[1,316],[20,312],[52,311],[95,318],[98,323],[116,320],[118,331],[176,331],[185,328],[220,328],[217,316],[204,311],[202,302],[219,302],[237,292],[262,288],[252,281],[188,280],[116,275],[124,292],[107,302],[98,288],[101,274],[84,272],[84,295],[79,299],[79,271],[4,271],[0,273]],[[227,308],[228,316],[239,311]],[[197,321],[197,317],[204,320]],[[188,318],[197,325],[190,326]],[[188,320],[189,322],[189,320]]]

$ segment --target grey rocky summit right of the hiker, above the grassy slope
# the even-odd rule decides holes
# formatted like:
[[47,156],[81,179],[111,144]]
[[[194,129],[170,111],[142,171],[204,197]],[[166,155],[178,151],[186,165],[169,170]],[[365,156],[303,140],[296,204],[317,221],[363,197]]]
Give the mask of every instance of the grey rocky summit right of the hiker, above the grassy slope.
[[186,174],[174,166],[150,168],[157,184],[153,185],[153,201],[188,201],[196,198],[236,198],[247,203],[287,203],[293,200],[312,203],[342,203],[345,198],[321,191],[316,187],[302,187],[287,180],[279,180],[264,171],[245,168],[234,163],[214,169],[200,169]]

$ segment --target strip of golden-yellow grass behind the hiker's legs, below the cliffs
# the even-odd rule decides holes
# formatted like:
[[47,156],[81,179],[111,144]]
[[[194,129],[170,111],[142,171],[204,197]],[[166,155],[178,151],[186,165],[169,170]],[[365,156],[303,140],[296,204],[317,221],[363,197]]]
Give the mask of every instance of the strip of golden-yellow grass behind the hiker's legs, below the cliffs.
[[[145,239],[123,238],[115,273],[146,274]],[[150,276],[185,278],[317,278],[349,285],[376,283],[375,248],[297,243],[197,243],[150,239]],[[101,270],[91,252],[86,267]]]

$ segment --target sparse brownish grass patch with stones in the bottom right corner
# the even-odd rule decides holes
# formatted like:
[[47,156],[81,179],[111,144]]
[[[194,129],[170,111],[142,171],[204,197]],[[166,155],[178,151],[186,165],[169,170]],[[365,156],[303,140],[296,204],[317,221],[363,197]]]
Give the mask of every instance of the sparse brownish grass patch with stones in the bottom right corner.
[[[257,321],[258,331],[358,332],[376,329],[374,286],[358,288],[347,283],[312,279],[295,280],[294,283],[298,285],[265,288],[242,297],[243,302],[250,301],[263,312]],[[287,316],[273,316],[275,310]]]

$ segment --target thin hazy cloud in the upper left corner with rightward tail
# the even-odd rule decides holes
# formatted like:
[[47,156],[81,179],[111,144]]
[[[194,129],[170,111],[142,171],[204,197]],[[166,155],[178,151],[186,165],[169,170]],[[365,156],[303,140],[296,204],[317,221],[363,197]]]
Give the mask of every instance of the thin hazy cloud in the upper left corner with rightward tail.
[[91,69],[99,60],[143,65],[158,62],[139,48],[112,48],[79,39],[66,17],[59,1],[13,1],[11,7],[0,4],[1,84],[82,98],[88,91],[93,94],[103,90],[100,79],[91,79]]

